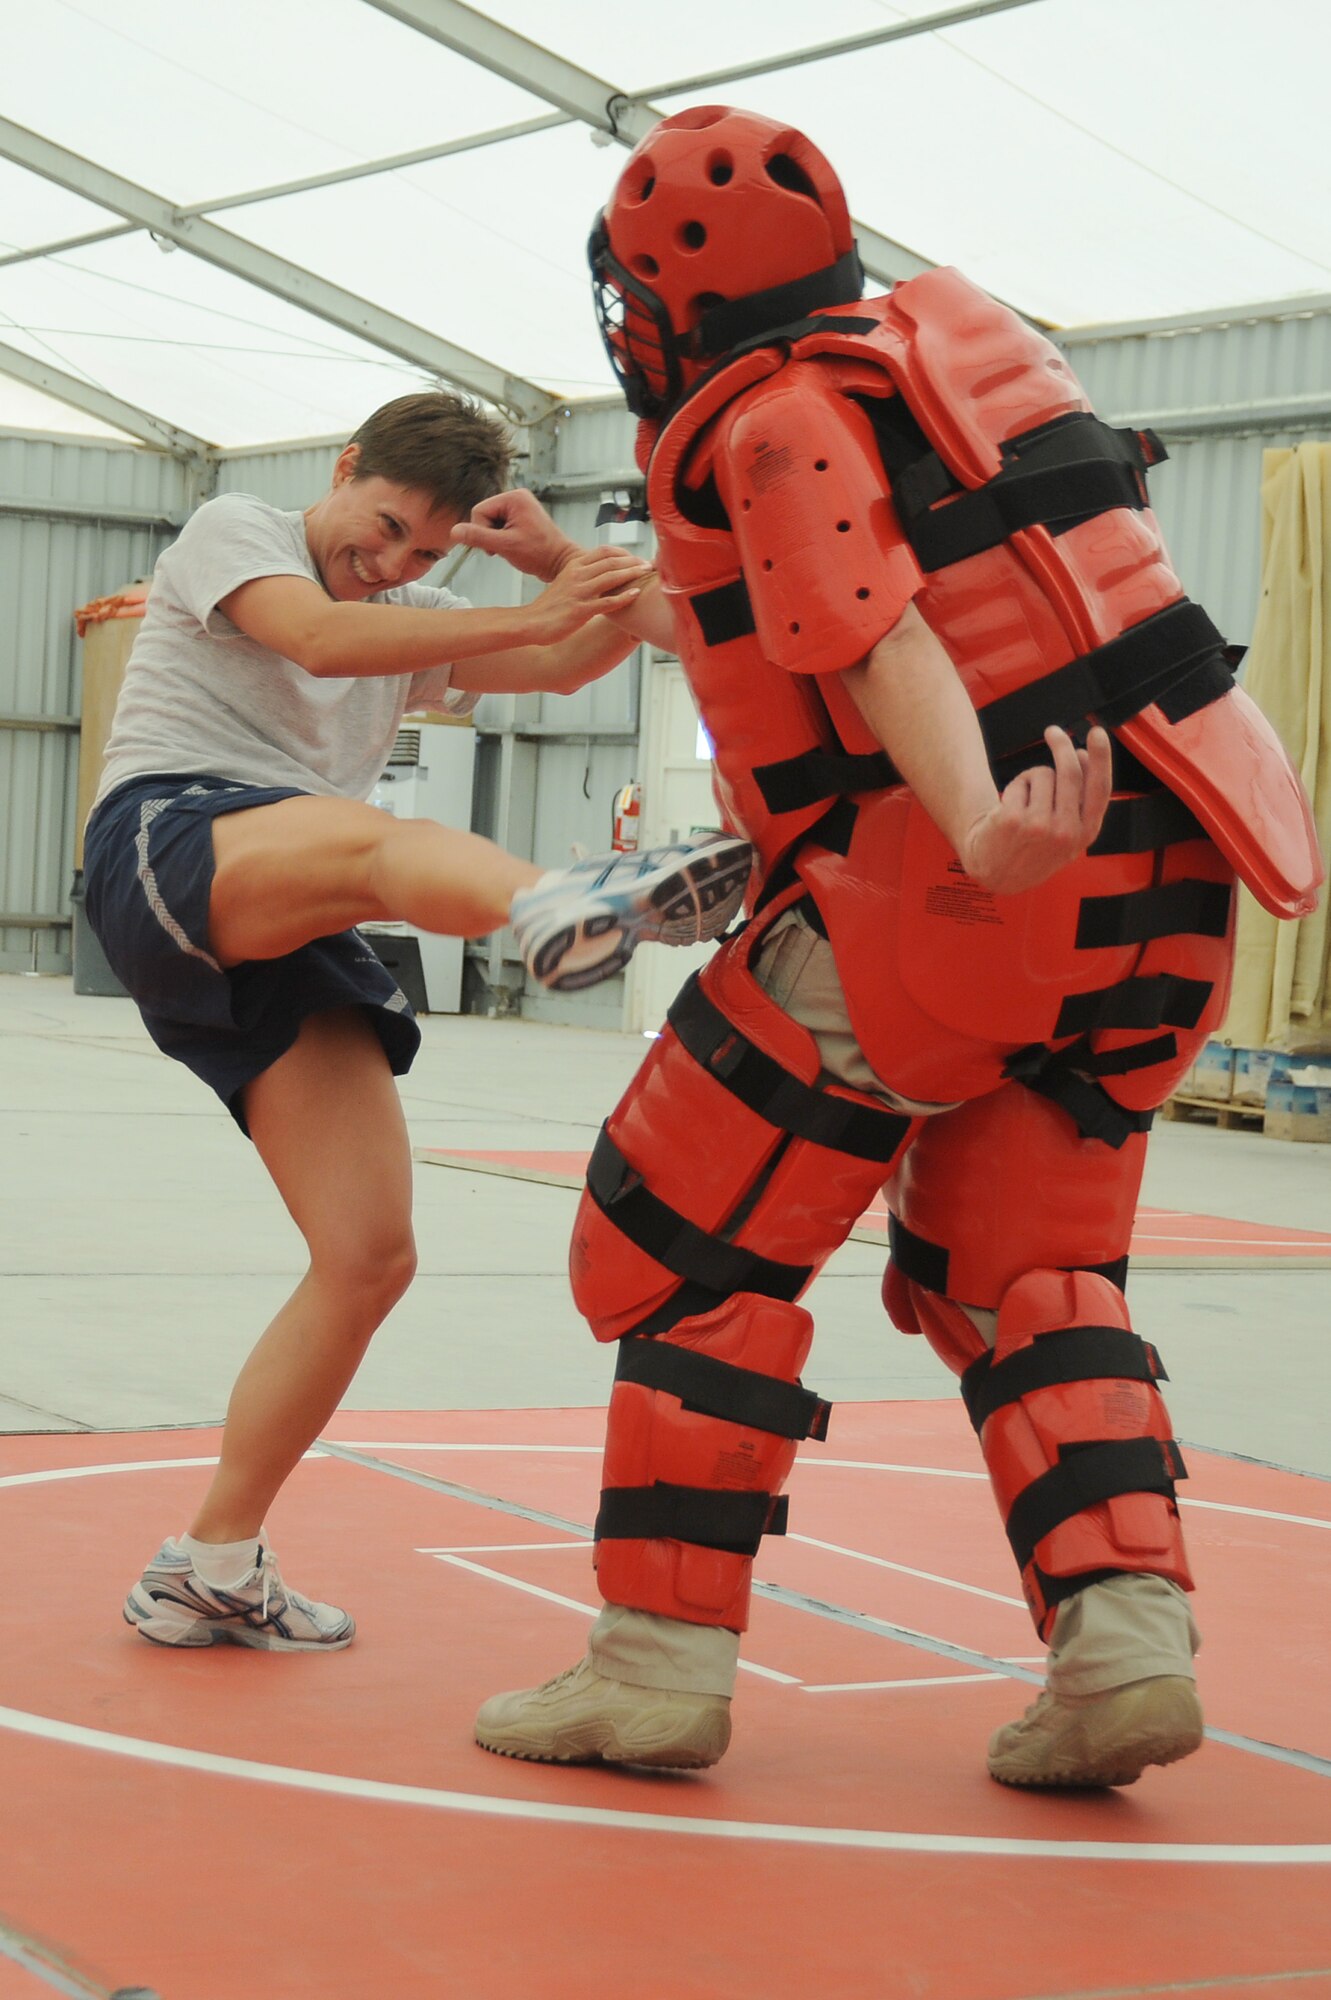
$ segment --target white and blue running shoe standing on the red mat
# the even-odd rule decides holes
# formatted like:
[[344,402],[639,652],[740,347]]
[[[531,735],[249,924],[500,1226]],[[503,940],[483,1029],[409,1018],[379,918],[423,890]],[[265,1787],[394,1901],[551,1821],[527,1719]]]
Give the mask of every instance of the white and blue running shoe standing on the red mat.
[[260,1560],[226,1590],[206,1584],[172,1538],[162,1544],[124,1600],[126,1624],[158,1646],[258,1646],[262,1652],[336,1652],[350,1646],[356,1620],[332,1604],[288,1590],[278,1558]]

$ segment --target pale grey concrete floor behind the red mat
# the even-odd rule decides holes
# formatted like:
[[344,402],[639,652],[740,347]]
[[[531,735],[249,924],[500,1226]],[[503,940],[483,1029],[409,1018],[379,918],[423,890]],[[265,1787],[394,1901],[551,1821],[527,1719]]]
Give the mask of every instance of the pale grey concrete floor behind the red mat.
[[[588,1150],[644,1042],[432,1016],[404,1080],[416,1146]],[[418,1166],[420,1276],[370,1350],[356,1410],[562,1408],[614,1354],[568,1296],[576,1194]],[[1143,1202],[1331,1230],[1331,1146],[1159,1122]],[[216,1100],[126,1000],[0,976],[0,1432],[210,1424],[302,1272],[302,1244]],[[847,1244],[809,1294],[807,1380],[841,1402],[953,1396]],[[1183,1442],[1331,1478],[1331,1268],[1137,1270]],[[835,1416],[833,1416],[835,1438]]]

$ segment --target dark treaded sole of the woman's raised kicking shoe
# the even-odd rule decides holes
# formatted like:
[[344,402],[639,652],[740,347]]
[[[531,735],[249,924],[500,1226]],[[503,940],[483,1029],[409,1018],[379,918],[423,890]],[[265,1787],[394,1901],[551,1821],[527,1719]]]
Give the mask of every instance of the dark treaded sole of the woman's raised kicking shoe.
[[[588,892],[588,916],[572,918],[544,940],[532,958],[532,974],[550,992],[580,992],[614,978],[644,942],[709,944],[725,930],[743,902],[753,870],[747,840],[717,842],[673,866],[650,892],[646,904],[636,904],[644,882],[616,896],[618,908],[608,908]],[[596,944],[612,932],[620,944],[592,966],[560,972],[562,962],[578,944]]]

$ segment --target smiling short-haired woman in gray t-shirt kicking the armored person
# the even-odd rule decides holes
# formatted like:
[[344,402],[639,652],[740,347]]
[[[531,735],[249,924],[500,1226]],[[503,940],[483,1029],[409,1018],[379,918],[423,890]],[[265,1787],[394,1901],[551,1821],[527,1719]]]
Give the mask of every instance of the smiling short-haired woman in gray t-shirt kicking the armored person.
[[737,840],[542,876],[476,834],[366,804],[410,704],[566,694],[638,642],[650,568],[576,548],[530,494],[504,504],[524,524],[520,566],[546,584],[534,602],[474,610],[420,582],[486,500],[496,540],[506,472],[498,422],[460,396],[406,396],[356,432],[304,514],[212,500],[154,574],[88,820],[88,916],[158,1046],[254,1140],[310,1250],[240,1372],[188,1534],[126,1600],[160,1644],[318,1650],[354,1634],[348,1612],[282,1584],[260,1538],[416,1268],[394,1074],[420,1032],[354,926],[514,922],[534,976],[578,986],[662,936],[664,904],[667,942],[689,942],[743,894]]

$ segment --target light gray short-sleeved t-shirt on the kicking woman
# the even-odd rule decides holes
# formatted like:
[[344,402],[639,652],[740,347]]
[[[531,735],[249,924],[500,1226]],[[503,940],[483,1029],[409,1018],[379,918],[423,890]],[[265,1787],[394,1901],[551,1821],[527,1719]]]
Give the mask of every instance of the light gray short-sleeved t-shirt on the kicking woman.
[[[158,556],[94,804],[154,772],[368,798],[408,708],[466,716],[476,706],[476,694],[450,686],[452,666],[320,680],[260,646],[218,610],[256,576],[320,582],[304,514],[252,494],[208,500]],[[368,602],[468,608],[428,584],[398,584]]]

